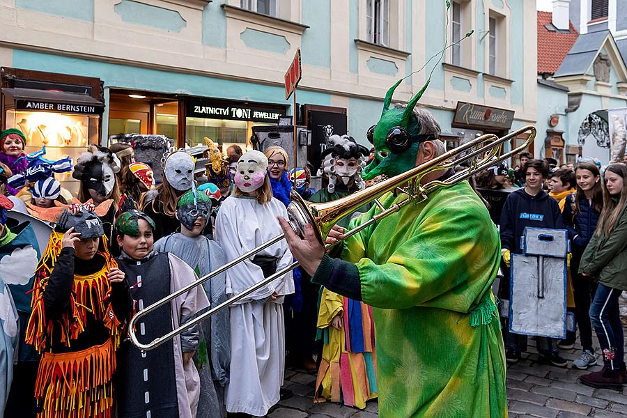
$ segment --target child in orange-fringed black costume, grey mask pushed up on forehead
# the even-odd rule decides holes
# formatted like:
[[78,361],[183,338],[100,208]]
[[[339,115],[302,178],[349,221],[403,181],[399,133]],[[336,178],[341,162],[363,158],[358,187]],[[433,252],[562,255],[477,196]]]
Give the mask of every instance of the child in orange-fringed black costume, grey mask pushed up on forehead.
[[111,417],[116,350],[132,300],[93,205],[63,211],[35,277],[26,342],[42,353],[38,417]]

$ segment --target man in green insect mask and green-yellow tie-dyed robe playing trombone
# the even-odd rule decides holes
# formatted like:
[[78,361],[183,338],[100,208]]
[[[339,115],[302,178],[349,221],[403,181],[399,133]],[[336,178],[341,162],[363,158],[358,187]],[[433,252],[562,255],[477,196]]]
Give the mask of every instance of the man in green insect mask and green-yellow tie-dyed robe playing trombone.
[[[402,81],[402,80],[401,80]],[[368,131],[375,157],[364,180],[396,176],[445,152],[440,125],[416,104],[391,107]],[[433,171],[422,184],[452,171]],[[389,208],[407,199],[387,193]],[[373,206],[348,229],[381,212]],[[307,225],[304,239],[279,219],[292,254],[312,281],[373,307],[380,417],[506,417],[505,355],[492,284],[500,239],[470,185],[440,188],[428,199],[352,235],[332,258]],[[327,238],[343,239],[335,226]],[[337,249],[336,247],[336,249]]]

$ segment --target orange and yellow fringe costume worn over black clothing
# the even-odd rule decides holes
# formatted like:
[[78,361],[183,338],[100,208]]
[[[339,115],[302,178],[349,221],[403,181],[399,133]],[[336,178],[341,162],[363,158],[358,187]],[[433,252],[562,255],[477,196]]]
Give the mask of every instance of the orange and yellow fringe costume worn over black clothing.
[[[116,349],[120,343],[121,324],[114,316],[107,299],[110,287],[107,273],[117,267],[107,250],[104,236],[104,266],[87,276],[75,274],[70,307],[60,319],[46,318],[43,293],[56,259],[61,252],[63,233],[54,231],[36,270],[33,286],[33,313],[26,328],[26,342],[43,353],[37,373],[35,397],[42,403],[38,418],[110,418],[114,404],[111,376],[116,369]],[[87,314],[93,314],[111,331],[111,338],[99,346],[70,353],[52,353],[53,330],[63,346],[84,331]],[[48,350],[48,351],[46,351]]]

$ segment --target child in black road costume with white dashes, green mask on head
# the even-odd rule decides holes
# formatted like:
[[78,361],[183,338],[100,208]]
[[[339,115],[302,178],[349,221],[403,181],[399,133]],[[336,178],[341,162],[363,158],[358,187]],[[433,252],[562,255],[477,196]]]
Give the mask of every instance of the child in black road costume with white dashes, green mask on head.
[[[139,309],[197,278],[194,270],[174,254],[153,249],[154,229],[153,219],[137,209],[124,212],[116,221],[122,250],[117,261]],[[203,289],[192,288],[141,320],[141,341],[152,341],[208,306]],[[146,353],[124,341],[118,352],[116,374],[118,417],[195,417],[200,384],[192,357],[198,347],[198,326]]]

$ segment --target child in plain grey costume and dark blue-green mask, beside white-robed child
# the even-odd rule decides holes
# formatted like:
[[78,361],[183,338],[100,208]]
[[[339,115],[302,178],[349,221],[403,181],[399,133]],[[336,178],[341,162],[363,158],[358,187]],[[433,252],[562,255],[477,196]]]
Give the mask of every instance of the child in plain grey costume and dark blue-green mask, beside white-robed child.
[[[155,242],[155,251],[169,252],[185,261],[199,277],[226,263],[222,248],[203,230],[209,222],[211,199],[195,189],[178,200],[176,217],[180,220],[180,233],[171,233]],[[226,274],[223,272],[203,283],[212,306],[227,299]],[[199,348],[194,363],[200,374],[199,418],[222,417],[224,390],[229,381],[231,362],[231,323],[229,310],[224,309],[201,323]]]

